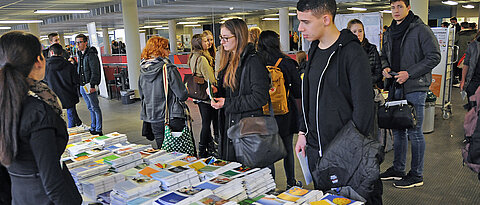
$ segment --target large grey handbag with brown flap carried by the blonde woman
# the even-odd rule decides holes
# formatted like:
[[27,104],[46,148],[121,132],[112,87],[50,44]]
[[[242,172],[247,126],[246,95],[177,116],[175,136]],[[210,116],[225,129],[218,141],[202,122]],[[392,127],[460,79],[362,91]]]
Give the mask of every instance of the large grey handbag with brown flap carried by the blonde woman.
[[[245,73],[242,72],[241,79]],[[239,93],[242,93],[242,86]],[[278,134],[270,98],[268,105],[270,116],[245,117],[227,130],[237,161],[248,167],[266,167],[287,156],[285,145]]]

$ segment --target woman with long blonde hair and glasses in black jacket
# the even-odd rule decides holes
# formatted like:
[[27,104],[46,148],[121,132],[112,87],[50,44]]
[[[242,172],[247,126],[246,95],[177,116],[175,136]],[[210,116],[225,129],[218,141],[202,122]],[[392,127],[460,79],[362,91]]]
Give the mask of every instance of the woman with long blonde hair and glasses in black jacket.
[[220,27],[220,34],[223,50],[217,76],[219,98],[215,98],[217,102],[211,102],[211,105],[224,111],[219,119],[220,158],[236,161],[227,129],[244,117],[263,115],[262,106],[269,99],[270,78],[268,70],[255,53],[255,46],[248,43],[248,28],[243,20],[225,21]]

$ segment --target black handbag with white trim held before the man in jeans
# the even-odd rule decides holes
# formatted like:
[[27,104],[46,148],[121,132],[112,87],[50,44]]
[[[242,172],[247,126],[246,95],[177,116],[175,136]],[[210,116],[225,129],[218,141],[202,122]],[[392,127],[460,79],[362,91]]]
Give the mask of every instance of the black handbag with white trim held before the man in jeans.
[[378,108],[378,126],[385,129],[410,129],[417,125],[417,112],[412,103],[405,99],[402,89],[400,99],[395,97],[395,83],[390,87],[387,102]]

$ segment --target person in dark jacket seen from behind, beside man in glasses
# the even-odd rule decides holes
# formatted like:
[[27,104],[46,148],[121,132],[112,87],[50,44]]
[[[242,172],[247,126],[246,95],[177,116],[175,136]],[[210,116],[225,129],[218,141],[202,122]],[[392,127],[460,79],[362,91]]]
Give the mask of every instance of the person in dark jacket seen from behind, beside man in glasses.
[[45,81],[60,98],[62,108],[67,109],[68,127],[80,126],[82,121],[75,107],[79,102],[78,74],[75,67],[61,56],[63,48],[60,44],[53,44],[49,50],[51,57],[45,66]]

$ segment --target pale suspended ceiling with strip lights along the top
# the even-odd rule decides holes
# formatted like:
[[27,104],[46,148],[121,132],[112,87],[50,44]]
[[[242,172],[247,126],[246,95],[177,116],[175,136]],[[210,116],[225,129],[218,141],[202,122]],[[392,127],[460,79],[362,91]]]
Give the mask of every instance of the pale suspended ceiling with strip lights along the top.
[[[140,25],[166,23],[167,20],[195,19],[200,23],[220,21],[222,17],[271,16],[278,8],[295,10],[298,0],[138,0]],[[474,3],[478,9],[480,0],[457,1]],[[430,0],[430,5],[441,5],[441,0]],[[388,0],[337,0],[339,13],[349,12],[347,7],[364,7],[369,11],[389,8]],[[36,9],[86,9],[89,14],[34,14]],[[96,22],[102,28],[123,28],[120,0],[0,0],[0,20],[43,20],[42,34],[48,32],[76,32],[86,30],[86,24]],[[27,29],[25,24],[0,24],[13,29]],[[2,32],[0,30],[0,32]]]

